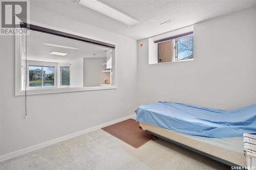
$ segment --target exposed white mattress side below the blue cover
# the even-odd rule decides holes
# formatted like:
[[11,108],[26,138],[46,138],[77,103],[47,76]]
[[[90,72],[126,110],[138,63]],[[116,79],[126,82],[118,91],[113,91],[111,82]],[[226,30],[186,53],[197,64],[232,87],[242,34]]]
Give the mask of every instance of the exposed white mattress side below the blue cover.
[[[176,132],[177,133],[177,132]],[[223,148],[226,150],[234,151],[243,154],[244,142],[243,137],[227,137],[227,138],[208,138],[200,136],[191,136],[179,133],[180,135],[198,140],[200,142],[214,145],[215,147]]]

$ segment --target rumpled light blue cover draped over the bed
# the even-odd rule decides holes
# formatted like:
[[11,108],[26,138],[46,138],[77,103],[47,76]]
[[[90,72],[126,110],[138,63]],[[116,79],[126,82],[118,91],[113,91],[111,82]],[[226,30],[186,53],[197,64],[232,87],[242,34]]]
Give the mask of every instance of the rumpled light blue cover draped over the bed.
[[182,103],[157,102],[140,106],[137,122],[204,137],[256,134],[256,104],[237,110],[216,110]]

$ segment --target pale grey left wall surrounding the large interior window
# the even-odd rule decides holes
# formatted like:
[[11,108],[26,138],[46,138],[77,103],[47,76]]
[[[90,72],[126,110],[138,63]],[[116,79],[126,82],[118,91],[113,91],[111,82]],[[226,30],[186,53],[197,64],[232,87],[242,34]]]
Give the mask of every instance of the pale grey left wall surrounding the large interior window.
[[0,36],[5,42],[1,45],[0,63],[1,155],[134,114],[137,106],[136,40],[34,6],[30,12],[34,21],[115,43],[118,88],[30,95],[28,118],[24,118],[25,98],[14,96],[14,37]]

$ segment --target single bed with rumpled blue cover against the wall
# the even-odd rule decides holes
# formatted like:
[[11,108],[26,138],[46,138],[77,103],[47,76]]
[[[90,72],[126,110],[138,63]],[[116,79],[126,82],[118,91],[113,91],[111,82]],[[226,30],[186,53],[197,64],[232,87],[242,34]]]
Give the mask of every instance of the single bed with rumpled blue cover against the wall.
[[256,105],[224,111],[157,102],[135,112],[140,128],[154,136],[229,166],[246,166],[242,136],[256,132]]

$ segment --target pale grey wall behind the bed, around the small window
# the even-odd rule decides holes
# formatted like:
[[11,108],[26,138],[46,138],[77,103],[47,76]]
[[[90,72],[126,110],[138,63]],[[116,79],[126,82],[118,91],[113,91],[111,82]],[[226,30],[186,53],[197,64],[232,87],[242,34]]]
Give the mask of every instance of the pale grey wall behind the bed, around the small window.
[[194,61],[148,65],[138,48],[139,103],[234,109],[256,103],[256,8],[194,25]]

